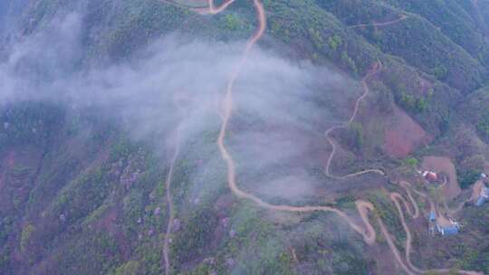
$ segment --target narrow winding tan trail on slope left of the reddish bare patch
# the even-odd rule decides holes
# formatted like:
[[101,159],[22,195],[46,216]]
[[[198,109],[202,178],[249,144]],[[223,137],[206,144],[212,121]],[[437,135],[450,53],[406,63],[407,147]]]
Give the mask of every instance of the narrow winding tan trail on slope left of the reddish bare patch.
[[381,70],[382,70],[382,63],[380,61],[378,61],[377,64],[375,65],[375,67],[373,68],[373,70],[369,71],[369,73],[367,73],[367,75],[361,80],[361,86],[363,88],[363,93],[355,101],[355,108],[353,109],[353,113],[351,114],[350,119],[348,119],[348,122],[346,124],[343,124],[340,126],[333,126],[333,127],[329,128],[328,130],[326,130],[326,132],[324,133],[326,140],[328,140],[328,142],[331,145],[331,153],[330,153],[330,156],[328,157],[328,160],[326,162],[326,167],[325,167],[324,173],[331,178],[346,179],[349,177],[364,175],[364,174],[369,174],[369,173],[386,175],[384,173],[384,171],[379,170],[379,169],[366,169],[366,170],[362,170],[362,171],[352,173],[349,175],[341,175],[341,176],[331,174],[331,163],[332,163],[332,159],[335,156],[336,150],[337,150],[336,144],[334,143],[334,140],[331,137],[331,133],[337,129],[340,129],[340,128],[348,128],[351,125],[351,123],[353,123],[353,121],[355,121],[355,119],[357,118],[357,114],[359,112],[359,109],[360,109],[361,101],[364,100],[370,93],[369,84],[367,83],[367,81],[369,81],[369,78],[373,77],[374,75],[379,73],[379,71],[381,71]]

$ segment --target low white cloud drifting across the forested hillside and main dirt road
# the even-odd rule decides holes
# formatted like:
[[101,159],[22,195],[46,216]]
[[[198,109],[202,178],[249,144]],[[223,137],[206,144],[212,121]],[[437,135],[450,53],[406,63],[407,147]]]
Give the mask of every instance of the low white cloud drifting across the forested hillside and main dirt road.
[[[123,121],[135,138],[169,133],[177,125],[183,129],[182,140],[218,130],[220,102],[245,42],[209,43],[173,33],[141,52],[138,60],[89,69],[82,66],[82,28],[81,16],[68,14],[11,47],[0,64],[0,101],[53,100],[72,109],[96,107],[101,115]],[[299,181],[291,179],[311,180],[300,166],[321,157],[304,157],[314,155],[311,150],[326,154],[329,148],[316,141],[324,141],[325,128],[349,113],[331,109],[336,103],[328,99],[353,83],[311,62],[287,61],[255,47],[235,82],[235,116],[226,141],[241,173],[298,166],[283,175],[274,173],[271,186],[279,186],[287,198],[312,194],[312,185],[297,192],[301,188],[294,183]],[[341,105],[336,108],[345,109],[348,100],[334,101]],[[283,183],[277,185],[281,177]],[[275,187],[264,186],[264,193]]]

